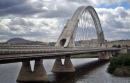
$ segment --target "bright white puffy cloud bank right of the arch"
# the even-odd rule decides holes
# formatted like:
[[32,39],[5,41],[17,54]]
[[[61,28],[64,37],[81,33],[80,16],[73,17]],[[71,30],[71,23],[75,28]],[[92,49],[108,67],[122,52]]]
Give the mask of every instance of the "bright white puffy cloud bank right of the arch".
[[115,9],[97,8],[96,10],[106,39],[128,39],[130,35],[128,34],[130,32],[129,9],[117,7]]

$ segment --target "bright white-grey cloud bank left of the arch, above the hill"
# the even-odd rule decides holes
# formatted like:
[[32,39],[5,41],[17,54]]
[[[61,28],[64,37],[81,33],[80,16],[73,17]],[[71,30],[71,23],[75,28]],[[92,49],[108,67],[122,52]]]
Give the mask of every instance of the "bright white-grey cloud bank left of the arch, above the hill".
[[63,28],[62,23],[63,19],[3,19],[0,22],[1,40],[22,37],[34,41],[56,41]]

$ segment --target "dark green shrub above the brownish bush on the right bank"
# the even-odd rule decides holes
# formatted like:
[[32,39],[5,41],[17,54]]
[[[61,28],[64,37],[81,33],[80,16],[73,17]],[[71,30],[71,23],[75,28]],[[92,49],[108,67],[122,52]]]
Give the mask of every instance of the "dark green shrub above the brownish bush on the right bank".
[[108,72],[114,73],[116,68],[130,68],[130,55],[119,55],[118,57],[113,57],[110,60],[108,66]]

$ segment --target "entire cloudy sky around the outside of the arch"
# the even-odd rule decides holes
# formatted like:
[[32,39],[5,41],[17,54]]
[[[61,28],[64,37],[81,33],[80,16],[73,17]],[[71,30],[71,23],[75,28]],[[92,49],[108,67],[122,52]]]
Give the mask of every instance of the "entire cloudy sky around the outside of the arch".
[[105,39],[130,39],[130,0],[0,0],[0,42],[55,42],[80,6],[93,6]]

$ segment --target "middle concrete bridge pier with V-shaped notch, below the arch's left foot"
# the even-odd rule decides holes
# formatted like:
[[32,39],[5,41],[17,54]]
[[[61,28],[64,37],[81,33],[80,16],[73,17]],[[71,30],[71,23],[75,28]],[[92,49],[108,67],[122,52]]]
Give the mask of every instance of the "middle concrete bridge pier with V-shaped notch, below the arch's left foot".
[[70,60],[70,56],[65,57],[64,64],[61,62],[61,58],[56,58],[52,68],[52,72],[74,72],[75,68]]

